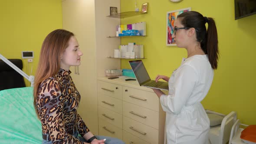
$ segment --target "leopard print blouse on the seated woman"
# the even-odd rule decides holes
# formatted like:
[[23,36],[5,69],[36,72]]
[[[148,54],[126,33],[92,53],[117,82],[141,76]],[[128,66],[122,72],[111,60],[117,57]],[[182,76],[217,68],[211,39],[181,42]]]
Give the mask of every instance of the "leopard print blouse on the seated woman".
[[49,134],[53,144],[82,144],[67,131],[76,128],[81,136],[89,132],[76,111],[81,97],[70,73],[60,69],[56,75],[45,79],[38,88],[36,105],[42,132]]

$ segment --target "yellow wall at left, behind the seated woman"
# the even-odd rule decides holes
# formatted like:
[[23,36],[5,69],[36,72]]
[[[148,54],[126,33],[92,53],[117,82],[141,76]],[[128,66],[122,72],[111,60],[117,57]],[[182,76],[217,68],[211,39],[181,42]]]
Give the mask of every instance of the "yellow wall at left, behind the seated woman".
[[[35,74],[44,38],[62,28],[61,0],[1,0],[0,54],[7,59],[21,59],[21,51],[34,51],[32,75]],[[27,59],[23,59],[23,71]],[[29,86],[29,82],[26,81]]]

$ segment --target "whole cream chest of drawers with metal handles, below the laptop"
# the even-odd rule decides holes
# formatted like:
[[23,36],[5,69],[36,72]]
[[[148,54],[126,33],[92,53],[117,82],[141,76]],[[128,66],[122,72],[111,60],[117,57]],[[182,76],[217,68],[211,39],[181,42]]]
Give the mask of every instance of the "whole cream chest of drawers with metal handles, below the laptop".
[[117,137],[126,144],[164,144],[165,112],[158,96],[125,79],[97,79],[99,135]]

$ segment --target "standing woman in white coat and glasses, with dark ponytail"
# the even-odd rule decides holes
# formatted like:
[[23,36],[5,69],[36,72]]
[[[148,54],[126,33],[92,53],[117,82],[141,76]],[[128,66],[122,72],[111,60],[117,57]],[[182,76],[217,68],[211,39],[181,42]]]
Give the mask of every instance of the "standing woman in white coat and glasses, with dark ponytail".
[[[208,29],[205,24],[208,23]],[[207,144],[210,122],[200,101],[207,95],[218,63],[217,28],[213,18],[189,11],[174,22],[174,41],[187,50],[187,58],[171,78],[158,75],[169,84],[169,93],[153,89],[166,111],[167,144]]]

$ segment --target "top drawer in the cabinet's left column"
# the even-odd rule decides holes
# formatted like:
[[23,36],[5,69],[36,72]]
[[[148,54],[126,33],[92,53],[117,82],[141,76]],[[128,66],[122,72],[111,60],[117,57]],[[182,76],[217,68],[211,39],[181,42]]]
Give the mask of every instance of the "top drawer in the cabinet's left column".
[[98,93],[122,99],[122,86],[98,81]]

